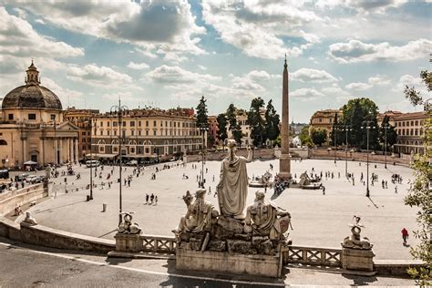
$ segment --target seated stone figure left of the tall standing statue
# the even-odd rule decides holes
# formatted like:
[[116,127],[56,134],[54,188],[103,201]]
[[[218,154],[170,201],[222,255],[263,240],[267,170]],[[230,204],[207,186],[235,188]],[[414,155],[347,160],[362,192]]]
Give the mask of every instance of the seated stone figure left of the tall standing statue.
[[195,201],[192,201],[192,195],[189,191],[186,192],[183,201],[188,206],[188,211],[181,217],[179,226],[173,230],[174,233],[210,231],[211,219],[217,217],[219,212],[214,210],[211,202],[204,201],[205,194],[205,189],[196,190]]

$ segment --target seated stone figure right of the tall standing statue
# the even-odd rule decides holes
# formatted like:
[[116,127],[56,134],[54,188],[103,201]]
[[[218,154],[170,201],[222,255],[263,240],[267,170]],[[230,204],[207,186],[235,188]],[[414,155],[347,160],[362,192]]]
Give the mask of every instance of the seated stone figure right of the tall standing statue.
[[255,201],[247,209],[244,231],[268,236],[270,240],[283,240],[283,233],[288,231],[291,225],[291,215],[272,202],[265,203],[264,195],[262,191],[255,193]]

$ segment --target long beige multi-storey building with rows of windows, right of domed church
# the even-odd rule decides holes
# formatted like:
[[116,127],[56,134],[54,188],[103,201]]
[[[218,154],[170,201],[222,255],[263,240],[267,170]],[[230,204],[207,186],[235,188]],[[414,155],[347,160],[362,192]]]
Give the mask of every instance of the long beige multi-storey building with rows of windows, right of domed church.
[[133,109],[121,121],[105,113],[93,118],[92,128],[92,152],[100,159],[118,159],[120,139],[123,159],[170,158],[202,145],[193,109]]

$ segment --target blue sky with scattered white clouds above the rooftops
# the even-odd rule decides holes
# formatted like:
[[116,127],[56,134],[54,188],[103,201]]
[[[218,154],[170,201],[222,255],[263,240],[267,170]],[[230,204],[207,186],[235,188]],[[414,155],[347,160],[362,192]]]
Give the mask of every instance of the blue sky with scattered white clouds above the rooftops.
[[432,3],[382,0],[0,0],[0,97],[24,85],[34,59],[63,107],[196,108],[210,115],[261,97],[290,120],[371,98],[415,111],[405,85],[430,93]]

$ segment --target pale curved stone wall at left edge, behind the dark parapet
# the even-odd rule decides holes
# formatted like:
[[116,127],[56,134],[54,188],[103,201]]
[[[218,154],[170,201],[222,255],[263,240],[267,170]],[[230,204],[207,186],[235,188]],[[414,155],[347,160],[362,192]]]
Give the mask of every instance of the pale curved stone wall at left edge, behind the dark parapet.
[[16,205],[22,206],[46,196],[48,196],[48,192],[44,189],[44,184],[42,183],[19,190],[6,191],[4,195],[0,195],[0,215],[14,211]]

